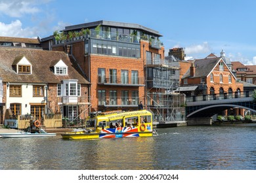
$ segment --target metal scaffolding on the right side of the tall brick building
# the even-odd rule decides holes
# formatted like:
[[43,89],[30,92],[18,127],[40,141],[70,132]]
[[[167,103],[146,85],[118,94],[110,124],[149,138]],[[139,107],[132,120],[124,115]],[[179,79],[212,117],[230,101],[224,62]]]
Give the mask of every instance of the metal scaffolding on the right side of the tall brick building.
[[179,87],[179,60],[154,58],[146,65],[146,106],[155,122],[182,121],[185,117],[184,96]]

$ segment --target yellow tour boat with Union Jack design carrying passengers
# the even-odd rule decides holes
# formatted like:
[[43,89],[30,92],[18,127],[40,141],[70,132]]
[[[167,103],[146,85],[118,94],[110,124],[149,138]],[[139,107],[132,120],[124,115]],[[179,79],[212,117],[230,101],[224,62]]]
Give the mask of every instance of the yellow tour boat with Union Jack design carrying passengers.
[[62,133],[62,139],[112,139],[152,137],[152,113],[148,110],[92,112],[85,129]]

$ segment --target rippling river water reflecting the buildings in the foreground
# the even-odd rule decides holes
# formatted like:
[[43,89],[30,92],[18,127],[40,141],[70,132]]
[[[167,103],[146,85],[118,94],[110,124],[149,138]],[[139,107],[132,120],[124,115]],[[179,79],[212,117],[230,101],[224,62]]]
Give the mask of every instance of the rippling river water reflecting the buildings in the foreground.
[[0,139],[1,170],[254,170],[256,124],[161,128],[156,137]]

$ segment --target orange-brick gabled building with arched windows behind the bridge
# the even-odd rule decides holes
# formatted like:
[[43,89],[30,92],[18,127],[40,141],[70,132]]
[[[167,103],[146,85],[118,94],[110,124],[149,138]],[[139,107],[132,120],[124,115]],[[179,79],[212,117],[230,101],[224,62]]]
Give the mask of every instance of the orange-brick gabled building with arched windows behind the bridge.
[[[243,84],[236,82],[230,64],[221,52],[221,57],[210,54],[204,59],[194,59],[190,68],[181,78],[181,87],[187,96],[190,95],[215,95],[232,97],[236,92],[243,92]],[[194,87],[192,87],[194,86]]]

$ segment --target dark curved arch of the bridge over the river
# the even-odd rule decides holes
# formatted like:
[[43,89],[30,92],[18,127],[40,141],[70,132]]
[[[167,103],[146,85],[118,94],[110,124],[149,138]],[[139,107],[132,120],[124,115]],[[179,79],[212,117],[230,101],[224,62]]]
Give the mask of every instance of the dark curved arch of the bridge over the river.
[[[196,114],[202,114],[205,117],[211,117],[214,114],[217,114],[218,112],[221,112],[223,110],[226,110],[226,109],[232,108],[232,107],[245,108],[245,109],[250,110],[252,112],[256,112],[256,110],[254,110],[253,108],[244,107],[242,105],[221,104],[221,105],[209,105],[209,106],[200,108],[198,110],[195,110],[194,112],[191,112],[186,117],[189,118],[189,117],[193,117],[193,116],[198,116]],[[215,110],[213,110],[213,109],[215,109]]]

